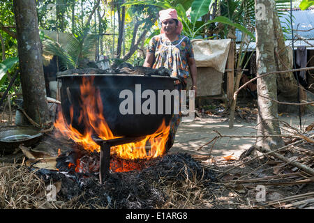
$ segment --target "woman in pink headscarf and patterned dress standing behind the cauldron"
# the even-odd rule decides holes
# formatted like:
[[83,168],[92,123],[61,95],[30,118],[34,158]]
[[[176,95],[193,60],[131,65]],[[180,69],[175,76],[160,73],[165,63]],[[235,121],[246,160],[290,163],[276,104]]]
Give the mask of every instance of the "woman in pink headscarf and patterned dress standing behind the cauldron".
[[[160,35],[154,36],[149,42],[144,67],[165,67],[172,70],[172,77],[178,77],[176,89],[186,90],[186,79],[191,75],[191,90],[196,89],[196,65],[193,47],[188,37],[181,35],[182,24],[178,20],[177,10],[170,8],[159,12],[161,22]],[[181,115],[174,115],[170,123],[170,134],[166,145],[168,151],[181,121]]]

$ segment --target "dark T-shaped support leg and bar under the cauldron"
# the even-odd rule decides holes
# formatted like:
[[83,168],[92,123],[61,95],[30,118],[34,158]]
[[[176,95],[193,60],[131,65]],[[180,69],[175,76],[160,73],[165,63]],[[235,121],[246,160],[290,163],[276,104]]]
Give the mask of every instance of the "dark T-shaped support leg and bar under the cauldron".
[[117,139],[103,140],[100,138],[93,138],[96,144],[100,145],[100,167],[99,167],[99,181],[100,184],[109,176],[110,172],[110,148],[122,144],[129,144],[131,142],[142,141],[145,137],[122,137]]

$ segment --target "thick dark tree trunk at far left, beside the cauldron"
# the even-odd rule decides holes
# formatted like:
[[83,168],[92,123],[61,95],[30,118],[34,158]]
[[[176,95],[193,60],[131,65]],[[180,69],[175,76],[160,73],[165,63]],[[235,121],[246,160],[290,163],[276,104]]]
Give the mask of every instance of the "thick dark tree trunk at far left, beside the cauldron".
[[23,108],[36,123],[50,121],[35,0],[13,1],[20,59]]

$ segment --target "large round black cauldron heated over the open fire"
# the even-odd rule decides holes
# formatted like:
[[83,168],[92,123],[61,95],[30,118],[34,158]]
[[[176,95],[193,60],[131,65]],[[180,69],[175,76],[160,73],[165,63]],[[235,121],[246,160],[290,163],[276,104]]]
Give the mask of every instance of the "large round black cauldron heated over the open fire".
[[[174,89],[176,78],[156,75],[59,75],[61,80],[61,108],[63,117],[70,123],[70,105],[73,105],[74,115],[72,126],[81,133],[84,133],[86,126],[79,123],[80,111],[82,110],[82,100],[80,85],[83,77],[94,77],[94,86],[100,91],[103,103],[103,116],[109,125],[110,130],[117,137],[140,137],[153,134],[165,119],[169,124],[173,114],[174,97],[171,97],[171,113],[165,114],[165,97],[163,98],[163,114],[158,114],[158,90]],[[119,98],[121,91],[128,89],[135,97],[135,84],[141,85],[142,92],[150,89],[156,95],[156,114],[135,114],[135,98],[133,98],[133,114],[121,114],[119,107],[125,98]],[[141,99],[142,103],[147,100]],[[98,109],[98,108],[95,108]]]

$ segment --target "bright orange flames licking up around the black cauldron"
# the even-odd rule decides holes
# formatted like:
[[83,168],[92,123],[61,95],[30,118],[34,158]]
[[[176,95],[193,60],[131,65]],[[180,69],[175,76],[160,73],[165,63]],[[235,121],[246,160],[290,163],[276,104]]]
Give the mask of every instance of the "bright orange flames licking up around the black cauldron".
[[[82,112],[78,119],[84,123],[84,126],[87,129],[84,134],[81,134],[79,131],[73,128],[71,124],[66,123],[60,111],[57,121],[54,123],[54,127],[64,136],[70,137],[70,139],[73,139],[73,141],[75,141],[77,144],[82,145],[87,151],[100,152],[100,146],[98,146],[98,144],[96,144],[96,142],[91,138],[92,132],[96,132],[100,139],[105,140],[115,139],[118,137],[114,137],[105,121],[105,118],[103,117],[103,105],[100,98],[100,93],[97,89],[94,88],[93,82],[94,78],[84,77],[82,85],[80,86]],[[71,123],[72,120],[73,107],[71,106]],[[169,132],[170,126],[165,125],[165,121],[163,121],[154,134],[147,135],[145,139],[136,143],[114,146],[111,148],[111,153],[127,160],[158,157],[165,153],[165,144],[167,142]],[[146,149],[147,141],[150,144],[148,153]]]

